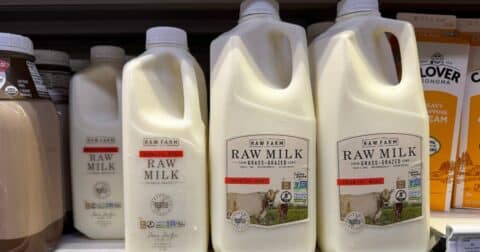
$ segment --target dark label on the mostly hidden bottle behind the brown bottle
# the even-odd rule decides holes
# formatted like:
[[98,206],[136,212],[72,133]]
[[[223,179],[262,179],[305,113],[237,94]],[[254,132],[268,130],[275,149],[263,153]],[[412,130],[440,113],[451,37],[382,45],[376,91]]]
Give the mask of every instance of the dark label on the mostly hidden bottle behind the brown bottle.
[[52,101],[55,104],[67,104],[71,74],[65,71],[41,70],[40,75]]

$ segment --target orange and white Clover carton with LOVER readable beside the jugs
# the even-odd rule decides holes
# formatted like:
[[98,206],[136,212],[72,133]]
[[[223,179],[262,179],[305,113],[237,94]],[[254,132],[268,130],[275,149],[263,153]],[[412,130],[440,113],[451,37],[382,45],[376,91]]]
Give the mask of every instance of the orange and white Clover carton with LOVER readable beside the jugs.
[[430,118],[430,207],[451,206],[469,44],[448,15],[400,13],[415,27]]

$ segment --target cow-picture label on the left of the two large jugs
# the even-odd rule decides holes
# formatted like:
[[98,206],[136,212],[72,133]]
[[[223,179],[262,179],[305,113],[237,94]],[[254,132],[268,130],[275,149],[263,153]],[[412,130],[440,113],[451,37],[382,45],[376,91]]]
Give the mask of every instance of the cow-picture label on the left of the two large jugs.
[[308,219],[307,139],[251,135],[226,144],[226,217],[236,231]]

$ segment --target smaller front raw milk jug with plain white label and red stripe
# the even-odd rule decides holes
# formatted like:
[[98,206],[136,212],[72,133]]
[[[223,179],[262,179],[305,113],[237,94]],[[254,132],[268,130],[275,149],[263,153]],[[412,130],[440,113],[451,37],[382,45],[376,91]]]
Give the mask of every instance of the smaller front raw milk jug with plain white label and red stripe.
[[127,252],[208,248],[207,101],[185,31],[154,27],[123,70]]

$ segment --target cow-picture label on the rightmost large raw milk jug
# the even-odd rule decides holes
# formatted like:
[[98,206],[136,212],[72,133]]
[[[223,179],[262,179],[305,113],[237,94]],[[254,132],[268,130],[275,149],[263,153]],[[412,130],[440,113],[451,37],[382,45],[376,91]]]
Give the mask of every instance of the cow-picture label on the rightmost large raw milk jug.
[[340,220],[358,232],[421,218],[422,138],[373,134],[338,142]]

